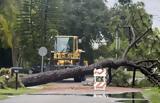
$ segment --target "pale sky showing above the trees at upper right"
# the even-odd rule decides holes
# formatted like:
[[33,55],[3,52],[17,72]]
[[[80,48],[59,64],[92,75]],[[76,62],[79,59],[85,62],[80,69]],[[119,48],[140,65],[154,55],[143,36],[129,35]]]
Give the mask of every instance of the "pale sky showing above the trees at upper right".
[[[108,6],[112,7],[118,0],[108,0]],[[143,1],[147,13],[153,15],[153,27],[160,28],[160,0],[132,0]]]

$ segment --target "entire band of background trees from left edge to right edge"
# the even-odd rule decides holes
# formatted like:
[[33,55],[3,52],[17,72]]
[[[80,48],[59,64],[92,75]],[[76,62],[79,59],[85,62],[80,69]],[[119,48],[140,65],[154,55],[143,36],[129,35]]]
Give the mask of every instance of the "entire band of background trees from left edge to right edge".
[[144,3],[118,1],[109,8],[105,0],[0,0],[0,48],[12,48],[14,65],[32,66],[41,46],[53,49],[56,35],[77,35],[89,63],[100,56],[159,59],[160,30],[151,29]]

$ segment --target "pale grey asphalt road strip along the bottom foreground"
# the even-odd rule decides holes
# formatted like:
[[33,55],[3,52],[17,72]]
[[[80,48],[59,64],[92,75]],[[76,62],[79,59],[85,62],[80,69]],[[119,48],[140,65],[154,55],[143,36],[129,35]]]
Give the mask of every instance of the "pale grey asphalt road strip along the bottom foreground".
[[2,100],[0,103],[116,103],[107,97],[74,95],[21,95]]

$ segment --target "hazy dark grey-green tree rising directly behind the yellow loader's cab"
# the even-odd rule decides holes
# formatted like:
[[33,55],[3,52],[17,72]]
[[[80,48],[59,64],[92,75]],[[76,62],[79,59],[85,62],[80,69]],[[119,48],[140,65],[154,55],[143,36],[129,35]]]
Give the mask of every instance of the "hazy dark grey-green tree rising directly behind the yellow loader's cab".
[[[77,35],[82,39],[89,63],[93,62],[93,41],[100,41],[101,34],[108,35],[105,28],[108,9],[103,0],[64,0],[62,35]],[[105,15],[106,14],[106,15]]]

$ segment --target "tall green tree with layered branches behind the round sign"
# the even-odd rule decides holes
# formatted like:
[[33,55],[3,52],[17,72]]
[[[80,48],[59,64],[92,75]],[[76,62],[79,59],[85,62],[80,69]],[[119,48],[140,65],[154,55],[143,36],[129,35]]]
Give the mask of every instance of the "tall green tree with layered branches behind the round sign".
[[[40,64],[38,49],[53,48],[53,37],[58,34],[61,18],[61,0],[24,0],[19,14],[17,32],[19,34],[19,65]],[[28,56],[32,54],[32,56]]]

